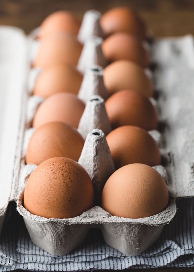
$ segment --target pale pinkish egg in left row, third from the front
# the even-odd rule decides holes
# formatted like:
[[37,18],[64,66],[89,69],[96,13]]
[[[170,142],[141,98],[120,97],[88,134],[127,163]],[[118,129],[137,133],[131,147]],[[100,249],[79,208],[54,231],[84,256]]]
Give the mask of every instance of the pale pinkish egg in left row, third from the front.
[[84,102],[74,93],[55,93],[39,105],[32,126],[37,129],[45,123],[60,121],[78,128],[84,109]]

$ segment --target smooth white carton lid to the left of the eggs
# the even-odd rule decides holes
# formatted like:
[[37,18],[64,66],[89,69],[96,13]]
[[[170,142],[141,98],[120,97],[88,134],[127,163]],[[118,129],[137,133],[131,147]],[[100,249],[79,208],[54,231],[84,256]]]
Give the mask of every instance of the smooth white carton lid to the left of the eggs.
[[28,40],[16,27],[0,27],[0,214],[15,199],[25,124]]

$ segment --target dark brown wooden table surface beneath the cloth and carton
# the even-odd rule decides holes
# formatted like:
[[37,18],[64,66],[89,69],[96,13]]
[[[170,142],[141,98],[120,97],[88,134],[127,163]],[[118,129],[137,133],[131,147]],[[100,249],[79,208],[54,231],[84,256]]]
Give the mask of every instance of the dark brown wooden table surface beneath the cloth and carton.
[[[118,5],[126,5],[138,11],[155,37],[180,36],[188,33],[194,35],[193,0],[1,0],[0,25],[14,25],[28,34],[38,27],[47,15],[60,9],[72,11],[82,19],[86,10],[96,9],[104,13]],[[194,267],[174,269],[162,267],[141,271],[186,272],[194,271]]]

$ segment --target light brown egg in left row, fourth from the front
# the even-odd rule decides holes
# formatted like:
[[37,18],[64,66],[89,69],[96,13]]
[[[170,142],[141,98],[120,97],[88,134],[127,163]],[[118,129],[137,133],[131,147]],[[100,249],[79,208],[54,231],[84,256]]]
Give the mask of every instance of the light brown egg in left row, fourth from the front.
[[82,79],[83,75],[73,65],[68,63],[53,65],[40,73],[35,82],[33,94],[41,97],[60,92],[77,95]]

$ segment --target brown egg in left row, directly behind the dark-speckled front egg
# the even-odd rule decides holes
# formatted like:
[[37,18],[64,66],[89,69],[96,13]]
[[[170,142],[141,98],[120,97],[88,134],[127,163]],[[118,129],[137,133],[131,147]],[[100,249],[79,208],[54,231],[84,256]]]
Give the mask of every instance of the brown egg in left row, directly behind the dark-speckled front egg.
[[76,128],[63,122],[46,123],[35,130],[30,138],[26,163],[39,165],[53,157],[67,157],[78,161],[84,139]]

